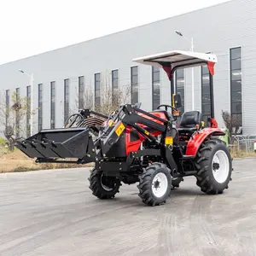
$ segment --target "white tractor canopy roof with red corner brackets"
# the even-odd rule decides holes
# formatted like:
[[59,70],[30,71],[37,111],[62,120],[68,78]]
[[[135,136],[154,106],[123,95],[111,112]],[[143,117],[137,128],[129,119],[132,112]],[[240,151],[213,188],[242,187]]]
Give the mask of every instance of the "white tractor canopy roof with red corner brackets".
[[147,55],[133,59],[132,61],[144,65],[161,67],[166,71],[170,80],[174,71],[179,67],[198,67],[207,64],[209,72],[213,75],[214,65],[218,62],[216,55],[183,50],[172,50],[155,55]]

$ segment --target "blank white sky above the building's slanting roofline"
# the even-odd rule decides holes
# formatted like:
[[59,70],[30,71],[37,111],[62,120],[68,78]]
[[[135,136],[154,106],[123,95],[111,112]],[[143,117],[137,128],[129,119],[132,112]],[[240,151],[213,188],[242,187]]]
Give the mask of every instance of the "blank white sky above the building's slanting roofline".
[[228,0],[0,0],[0,64]]

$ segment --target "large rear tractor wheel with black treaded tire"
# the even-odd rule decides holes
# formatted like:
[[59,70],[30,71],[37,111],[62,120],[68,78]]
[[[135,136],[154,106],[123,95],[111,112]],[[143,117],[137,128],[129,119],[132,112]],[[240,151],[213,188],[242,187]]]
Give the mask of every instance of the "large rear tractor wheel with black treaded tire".
[[[214,155],[222,154],[224,158],[223,164],[219,164],[217,161],[212,163]],[[224,156],[225,155],[225,156]],[[218,160],[219,161],[219,160]],[[223,180],[218,180],[214,177],[213,172],[218,172],[218,168],[227,165],[224,172],[226,177]],[[222,166],[221,166],[222,165]],[[207,140],[201,144],[198,153],[196,155],[195,167],[198,172],[195,175],[196,185],[201,188],[201,191],[209,195],[222,194],[224,189],[228,189],[228,184],[231,180],[232,172],[232,159],[230,156],[230,150],[226,144],[217,137],[207,138]]]

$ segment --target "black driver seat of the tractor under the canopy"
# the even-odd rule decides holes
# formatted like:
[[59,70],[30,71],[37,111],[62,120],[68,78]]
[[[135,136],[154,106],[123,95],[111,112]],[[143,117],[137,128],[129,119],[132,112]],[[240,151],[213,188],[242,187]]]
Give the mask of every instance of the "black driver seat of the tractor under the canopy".
[[182,115],[180,125],[177,129],[179,133],[193,133],[197,130],[196,125],[201,129],[202,117],[199,111],[189,111]]

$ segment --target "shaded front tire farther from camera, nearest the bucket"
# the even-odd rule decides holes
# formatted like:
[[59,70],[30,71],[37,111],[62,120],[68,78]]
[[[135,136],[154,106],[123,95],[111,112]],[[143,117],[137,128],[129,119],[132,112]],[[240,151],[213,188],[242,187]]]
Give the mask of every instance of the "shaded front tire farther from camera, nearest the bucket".
[[[106,177],[104,172],[93,168],[90,171],[89,189],[92,191],[92,195],[95,195],[99,199],[111,199],[119,193],[120,181],[116,177]],[[110,186],[109,189],[104,186]]]

